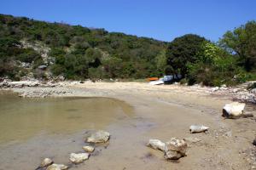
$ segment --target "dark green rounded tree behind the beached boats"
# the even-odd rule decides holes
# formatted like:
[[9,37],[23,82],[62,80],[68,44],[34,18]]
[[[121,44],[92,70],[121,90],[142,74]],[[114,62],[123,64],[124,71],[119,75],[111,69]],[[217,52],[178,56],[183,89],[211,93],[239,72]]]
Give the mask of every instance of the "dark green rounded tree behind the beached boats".
[[187,34],[183,37],[175,38],[166,50],[167,64],[174,70],[180,70],[180,74],[185,77],[187,74],[187,63],[194,63],[197,54],[201,50],[202,42],[207,40],[194,34]]

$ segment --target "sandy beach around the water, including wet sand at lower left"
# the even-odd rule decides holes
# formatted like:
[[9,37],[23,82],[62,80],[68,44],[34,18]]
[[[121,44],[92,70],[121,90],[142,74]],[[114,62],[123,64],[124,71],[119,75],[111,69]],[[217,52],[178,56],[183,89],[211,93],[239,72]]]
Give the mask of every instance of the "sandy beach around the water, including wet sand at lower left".
[[[20,88],[15,91],[47,89]],[[112,135],[107,148],[96,148],[88,161],[71,169],[240,170],[256,166],[253,165],[256,156],[252,144],[256,135],[255,119],[228,120],[221,117],[224,104],[231,102],[229,98],[212,97],[204,90],[135,82],[84,83],[60,89],[71,93],[59,96],[119,99],[131,105],[134,111],[133,115],[120,116],[104,127],[103,130]],[[256,116],[254,107],[247,106],[246,112]],[[210,127],[209,133],[191,134],[191,124]],[[0,169],[34,169],[44,157],[68,164],[69,153],[82,151],[84,131],[53,134],[46,139],[38,135],[24,143],[5,145],[1,151]],[[166,141],[172,137],[193,137],[201,141],[189,143],[188,156],[179,161],[166,161],[161,151],[145,146],[148,139]]]

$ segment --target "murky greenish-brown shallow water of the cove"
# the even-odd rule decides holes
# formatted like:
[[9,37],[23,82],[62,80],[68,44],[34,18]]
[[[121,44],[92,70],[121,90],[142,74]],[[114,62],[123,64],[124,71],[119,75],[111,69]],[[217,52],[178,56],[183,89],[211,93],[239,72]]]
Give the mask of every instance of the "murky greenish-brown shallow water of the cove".
[[104,128],[132,116],[131,105],[108,98],[21,99],[0,94],[0,143],[20,141],[38,133],[74,133]]

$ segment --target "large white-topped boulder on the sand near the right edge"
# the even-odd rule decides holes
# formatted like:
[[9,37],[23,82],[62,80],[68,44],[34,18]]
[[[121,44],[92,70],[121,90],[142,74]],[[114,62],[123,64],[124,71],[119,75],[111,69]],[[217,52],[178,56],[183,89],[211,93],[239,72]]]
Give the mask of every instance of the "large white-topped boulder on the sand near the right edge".
[[226,104],[224,105],[222,116],[227,118],[240,117],[243,115],[244,107],[245,107],[245,104],[238,103],[238,102]]

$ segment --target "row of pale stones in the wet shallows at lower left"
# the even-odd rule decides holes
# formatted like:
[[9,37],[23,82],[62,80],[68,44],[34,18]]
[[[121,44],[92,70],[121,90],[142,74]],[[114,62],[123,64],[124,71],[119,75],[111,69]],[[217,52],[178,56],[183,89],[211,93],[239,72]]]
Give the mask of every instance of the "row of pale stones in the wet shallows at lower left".
[[[97,131],[96,133],[92,133],[88,138],[85,139],[85,142],[93,144],[106,143],[108,142],[109,138],[110,133],[101,130]],[[69,161],[71,161],[74,164],[82,163],[85,160],[88,160],[90,157],[90,153],[92,153],[95,150],[95,148],[90,145],[85,145],[82,147],[82,149],[85,151],[85,153],[71,153],[69,156]],[[37,169],[65,170],[68,169],[68,167],[63,164],[55,164],[54,161],[52,161],[51,159],[44,158],[44,160],[41,162],[40,166]]]

